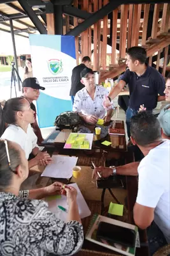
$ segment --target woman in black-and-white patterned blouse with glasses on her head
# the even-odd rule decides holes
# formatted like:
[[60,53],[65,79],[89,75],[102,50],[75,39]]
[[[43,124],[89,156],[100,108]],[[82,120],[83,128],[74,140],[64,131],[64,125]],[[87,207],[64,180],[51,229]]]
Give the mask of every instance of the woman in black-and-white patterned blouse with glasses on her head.
[[[48,211],[46,202],[20,198],[20,185],[28,173],[24,150],[17,143],[0,140],[0,254],[74,255],[83,243],[76,189],[57,182],[46,187],[51,195],[53,190],[54,195],[67,196],[67,222],[64,222]],[[49,193],[41,192],[41,197],[46,195]]]

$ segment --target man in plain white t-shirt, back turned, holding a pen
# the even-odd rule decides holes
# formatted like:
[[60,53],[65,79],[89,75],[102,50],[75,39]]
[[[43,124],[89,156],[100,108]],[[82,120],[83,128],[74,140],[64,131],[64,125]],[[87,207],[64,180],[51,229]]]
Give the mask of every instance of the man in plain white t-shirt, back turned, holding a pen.
[[[101,172],[103,177],[108,177],[111,173],[139,175],[134,221],[139,228],[145,229],[150,227],[154,220],[157,230],[160,228],[158,235],[151,232],[152,227],[148,228],[148,241],[153,253],[166,241],[170,243],[170,140],[162,140],[159,120],[154,115],[142,111],[132,116],[131,141],[138,145],[145,156],[139,163],[138,172],[135,171],[138,163],[131,163],[113,168],[114,170],[96,168],[94,175],[97,171]],[[164,236],[160,237],[162,233]]]

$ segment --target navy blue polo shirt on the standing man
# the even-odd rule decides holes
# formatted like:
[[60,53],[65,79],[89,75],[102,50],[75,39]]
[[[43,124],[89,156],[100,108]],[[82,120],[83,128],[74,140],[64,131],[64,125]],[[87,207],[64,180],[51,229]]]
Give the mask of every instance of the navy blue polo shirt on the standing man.
[[129,85],[129,108],[134,110],[138,110],[142,104],[147,110],[152,110],[157,106],[158,94],[164,96],[164,77],[153,67],[147,66],[142,76],[137,76],[135,72],[127,69],[121,80]]

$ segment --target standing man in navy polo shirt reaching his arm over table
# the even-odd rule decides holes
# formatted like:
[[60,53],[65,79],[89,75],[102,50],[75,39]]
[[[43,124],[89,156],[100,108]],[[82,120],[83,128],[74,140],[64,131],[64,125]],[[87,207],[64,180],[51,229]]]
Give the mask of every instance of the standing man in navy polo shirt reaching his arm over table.
[[153,67],[146,65],[146,50],[143,47],[131,47],[127,51],[127,69],[121,80],[115,86],[104,105],[110,106],[111,100],[122,91],[125,84],[129,84],[129,108],[126,112],[127,134],[130,138],[130,120],[136,115],[140,105],[148,111],[156,108],[157,102],[165,99],[165,81],[161,74]]

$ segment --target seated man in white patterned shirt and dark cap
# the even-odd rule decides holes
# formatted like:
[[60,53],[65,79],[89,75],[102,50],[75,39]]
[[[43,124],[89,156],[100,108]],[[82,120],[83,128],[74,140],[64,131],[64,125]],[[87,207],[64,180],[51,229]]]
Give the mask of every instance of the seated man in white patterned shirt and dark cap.
[[[85,85],[83,89],[76,93],[74,97],[73,111],[78,112],[83,121],[87,124],[101,127],[101,138],[108,134],[108,127],[97,125],[99,118],[104,119],[104,123],[110,122],[113,115],[113,105],[108,110],[103,106],[103,100],[108,92],[103,86],[96,86],[94,82],[94,72],[91,68],[84,68],[81,73],[81,83]],[[87,127],[80,127],[80,132],[90,133]]]

